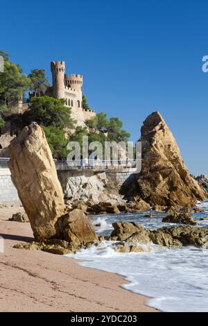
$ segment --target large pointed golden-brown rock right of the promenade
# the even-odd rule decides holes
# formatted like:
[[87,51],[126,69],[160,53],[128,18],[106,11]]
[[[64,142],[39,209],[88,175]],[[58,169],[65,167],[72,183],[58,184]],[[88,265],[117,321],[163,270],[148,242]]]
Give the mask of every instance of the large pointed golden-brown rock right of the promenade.
[[205,191],[193,180],[176,141],[159,112],[141,128],[142,164],[136,175],[137,195],[151,206],[195,205]]

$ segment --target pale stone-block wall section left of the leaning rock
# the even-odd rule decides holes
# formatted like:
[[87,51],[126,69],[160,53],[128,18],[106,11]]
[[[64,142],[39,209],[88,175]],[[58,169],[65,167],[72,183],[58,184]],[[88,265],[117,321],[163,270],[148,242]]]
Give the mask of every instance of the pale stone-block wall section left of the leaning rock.
[[19,197],[11,180],[10,169],[0,169],[0,204],[15,202],[19,202]]

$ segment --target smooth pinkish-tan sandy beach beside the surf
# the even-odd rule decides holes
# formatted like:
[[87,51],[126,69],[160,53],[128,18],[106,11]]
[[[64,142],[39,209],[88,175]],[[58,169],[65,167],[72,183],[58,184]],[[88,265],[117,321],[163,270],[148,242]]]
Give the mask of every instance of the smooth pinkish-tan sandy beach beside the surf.
[[148,298],[121,288],[119,275],[78,266],[77,260],[48,252],[19,250],[33,241],[29,223],[8,221],[22,207],[0,209],[0,311],[156,311]]

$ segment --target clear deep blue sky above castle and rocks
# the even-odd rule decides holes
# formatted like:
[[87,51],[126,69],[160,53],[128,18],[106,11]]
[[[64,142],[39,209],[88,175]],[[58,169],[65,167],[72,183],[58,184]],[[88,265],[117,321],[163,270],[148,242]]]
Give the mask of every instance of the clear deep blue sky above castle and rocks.
[[1,1],[0,48],[26,73],[64,60],[89,105],[120,117],[137,140],[158,110],[191,173],[208,174],[208,2]]

